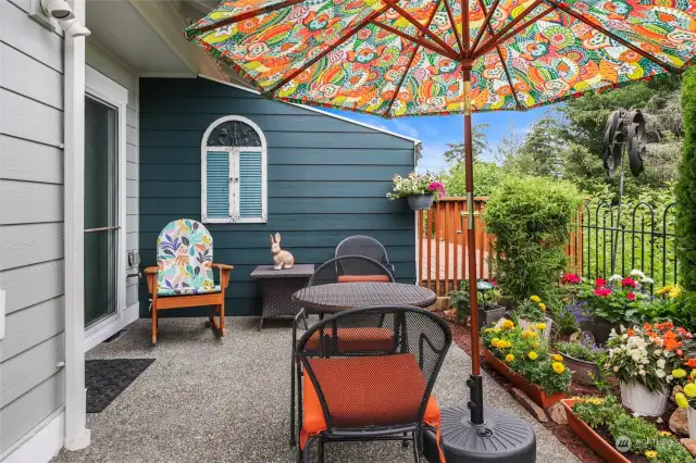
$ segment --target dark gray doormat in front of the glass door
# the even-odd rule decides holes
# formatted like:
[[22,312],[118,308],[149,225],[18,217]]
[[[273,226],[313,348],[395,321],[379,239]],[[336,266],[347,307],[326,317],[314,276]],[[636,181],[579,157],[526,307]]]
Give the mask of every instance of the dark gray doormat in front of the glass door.
[[109,406],[152,362],[154,359],[86,361],[87,413],[99,413]]

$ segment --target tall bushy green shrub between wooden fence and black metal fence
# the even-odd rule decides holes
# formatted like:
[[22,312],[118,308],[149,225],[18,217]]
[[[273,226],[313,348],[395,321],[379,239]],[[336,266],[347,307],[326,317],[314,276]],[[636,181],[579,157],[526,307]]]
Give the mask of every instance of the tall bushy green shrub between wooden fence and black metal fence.
[[484,211],[493,241],[493,270],[506,295],[523,301],[546,297],[566,267],[564,242],[581,204],[570,183],[507,177]]

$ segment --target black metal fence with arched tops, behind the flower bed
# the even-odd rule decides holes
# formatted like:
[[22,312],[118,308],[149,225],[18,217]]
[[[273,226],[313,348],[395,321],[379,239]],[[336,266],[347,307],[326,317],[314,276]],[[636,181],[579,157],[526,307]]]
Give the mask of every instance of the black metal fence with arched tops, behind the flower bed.
[[650,289],[679,281],[676,203],[585,203],[575,220],[567,253],[586,278],[626,275],[636,268],[654,280]]

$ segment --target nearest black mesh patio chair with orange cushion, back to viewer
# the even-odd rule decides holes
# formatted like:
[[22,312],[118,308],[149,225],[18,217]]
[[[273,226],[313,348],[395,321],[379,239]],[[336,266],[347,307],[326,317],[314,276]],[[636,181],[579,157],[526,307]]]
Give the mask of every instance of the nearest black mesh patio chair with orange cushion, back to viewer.
[[[391,338],[375,346],[384,329]],[[310,327],[296,351],[298,458],[309,462],[313,441],[323,463],[327,441],[408,438],[420,462],[423,430],[433,427],[439,437],[431,392],[451,340],[443,318],[408,305],[352,309]]]

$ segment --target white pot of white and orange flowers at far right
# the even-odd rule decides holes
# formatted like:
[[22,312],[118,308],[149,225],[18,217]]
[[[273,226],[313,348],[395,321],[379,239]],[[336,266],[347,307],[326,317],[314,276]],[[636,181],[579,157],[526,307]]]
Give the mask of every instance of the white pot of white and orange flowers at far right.
[[612,330],[607,367],[619,378],[621,401],[636,415],[659,416],[664,411],[674,377],[692,335],[671,322]]

